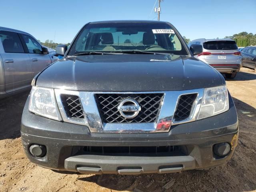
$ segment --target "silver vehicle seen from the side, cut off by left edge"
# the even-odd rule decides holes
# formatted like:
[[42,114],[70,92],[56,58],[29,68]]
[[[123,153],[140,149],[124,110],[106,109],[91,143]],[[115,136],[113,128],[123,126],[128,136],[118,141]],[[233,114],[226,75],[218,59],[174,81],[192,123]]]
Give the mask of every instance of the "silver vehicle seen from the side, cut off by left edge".
[[58,60],[30,34],[0,27],[0,98],[30,88],[38,72]]

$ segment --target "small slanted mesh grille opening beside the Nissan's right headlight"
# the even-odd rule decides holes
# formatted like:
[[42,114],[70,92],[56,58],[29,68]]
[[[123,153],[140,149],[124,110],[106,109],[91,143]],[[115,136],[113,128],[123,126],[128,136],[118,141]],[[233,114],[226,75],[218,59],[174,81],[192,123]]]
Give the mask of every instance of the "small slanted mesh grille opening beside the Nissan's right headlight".
[[197,94],[186,94],[180,96],[178,106],[174,114],[175,121],[181,121],[190,116],[190,112]]

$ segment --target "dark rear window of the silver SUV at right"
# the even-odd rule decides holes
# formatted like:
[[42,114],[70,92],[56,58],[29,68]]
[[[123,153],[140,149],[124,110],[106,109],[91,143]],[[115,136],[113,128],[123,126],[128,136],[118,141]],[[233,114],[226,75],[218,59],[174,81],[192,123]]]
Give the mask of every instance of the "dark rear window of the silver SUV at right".
[[207,41],[203,44],[208,50],[236,50],[238,49],[235,41]]

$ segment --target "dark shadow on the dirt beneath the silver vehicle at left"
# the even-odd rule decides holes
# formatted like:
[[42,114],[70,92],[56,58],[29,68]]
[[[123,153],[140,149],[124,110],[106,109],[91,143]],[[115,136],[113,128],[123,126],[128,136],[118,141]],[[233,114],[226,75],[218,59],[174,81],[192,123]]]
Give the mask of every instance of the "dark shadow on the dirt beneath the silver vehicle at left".
[[29,91],[0,99],[0,140],[20,137],[22,111]]

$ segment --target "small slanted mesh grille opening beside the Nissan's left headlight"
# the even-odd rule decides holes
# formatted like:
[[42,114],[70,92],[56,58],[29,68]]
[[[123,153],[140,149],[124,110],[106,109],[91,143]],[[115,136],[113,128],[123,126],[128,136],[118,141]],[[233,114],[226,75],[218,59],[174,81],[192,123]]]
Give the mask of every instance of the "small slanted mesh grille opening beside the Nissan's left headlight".
[[79,119],[84,118],[84,112],[78,96],[62,94],[60,97],[62,100],[62,104],[64,106],[64,110],[66,112],[66,115],[69,118],[79,118]]

